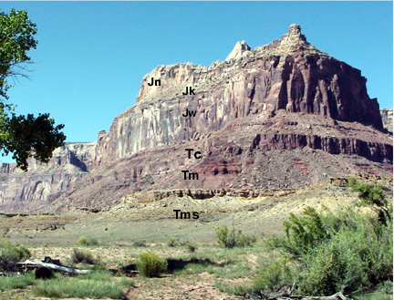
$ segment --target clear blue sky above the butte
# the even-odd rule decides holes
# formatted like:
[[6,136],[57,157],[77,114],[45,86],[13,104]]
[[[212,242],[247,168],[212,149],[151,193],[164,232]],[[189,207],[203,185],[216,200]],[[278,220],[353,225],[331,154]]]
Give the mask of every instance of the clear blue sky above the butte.
[[[20,114],[48,112],[67,141],[97,140],[135,103],[159,65],[211,65],[237,41],[254,48],[292,23],[307,41],[368,78],[368,95],[392,108],[392,2],[2,2],[36,23],[36,64],[9,91]],[[1,158],[1,161],[9,161]]]

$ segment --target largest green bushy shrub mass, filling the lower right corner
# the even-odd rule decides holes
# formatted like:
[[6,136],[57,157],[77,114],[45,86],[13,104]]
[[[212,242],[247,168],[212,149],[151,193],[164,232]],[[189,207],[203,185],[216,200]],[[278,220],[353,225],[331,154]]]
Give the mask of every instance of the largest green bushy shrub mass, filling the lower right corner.
[[380,221],[350,209],[307,208],[285,222],[284,237],[267,243],[291,255],[301,293],[330,295],[343,284],[348,292],[358,291],[387,281],[392,273],[392,223]]

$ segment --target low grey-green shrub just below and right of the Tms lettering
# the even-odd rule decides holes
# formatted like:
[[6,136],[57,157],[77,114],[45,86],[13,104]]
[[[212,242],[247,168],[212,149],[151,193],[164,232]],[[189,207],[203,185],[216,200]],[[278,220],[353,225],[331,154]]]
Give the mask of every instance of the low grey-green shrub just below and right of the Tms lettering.
[[241,230],[236,231],[235,228],[229,231],[227,226],[216,228],[215,233],[218,244],[224,248],[251,246],[256,241],[254,235],[245,235]]

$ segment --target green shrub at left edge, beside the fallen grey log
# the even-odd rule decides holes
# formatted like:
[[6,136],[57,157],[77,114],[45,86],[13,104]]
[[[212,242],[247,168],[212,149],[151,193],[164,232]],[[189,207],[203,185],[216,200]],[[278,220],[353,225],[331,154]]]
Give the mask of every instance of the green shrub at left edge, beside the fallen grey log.
[[0,240],[0,269],[13,270],[16,263],[30,257],[25,246],[16,246],[6,240]]

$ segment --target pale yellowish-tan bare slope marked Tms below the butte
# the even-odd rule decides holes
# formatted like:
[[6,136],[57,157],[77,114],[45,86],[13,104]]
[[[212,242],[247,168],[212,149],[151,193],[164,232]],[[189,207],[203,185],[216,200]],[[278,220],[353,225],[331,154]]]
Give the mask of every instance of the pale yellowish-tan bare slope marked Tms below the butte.
[[[282,233],[289,212],[306,206],[340,209],[357,202],[357,194],[341,183],[326,183],[273,197],[241,198],[215,196],[197,200],[188,196],[158,202],[124,202],[106,212],[74,209],[59,214],[0,214],[0,234],[14,243],[32,246],[72,246],[79,236],[107,245],[130,245],[144,240],[165,243],[170,237],[212,242],[214,228],[235,226],[244,233]],[[176,212],[198,212],[199,219],[176,219]]]

